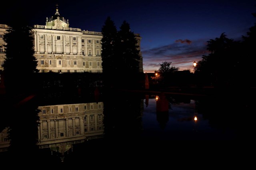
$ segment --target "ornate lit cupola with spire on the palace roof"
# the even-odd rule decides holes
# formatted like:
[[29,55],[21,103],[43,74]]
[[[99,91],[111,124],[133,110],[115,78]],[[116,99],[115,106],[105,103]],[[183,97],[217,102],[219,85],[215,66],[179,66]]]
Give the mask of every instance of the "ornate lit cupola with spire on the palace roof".
[[68,20],[60,16],[58,4],[56,4],[56,12],[50,18],[46,17],[46,27],[50,29],[64,29],[69,27]]

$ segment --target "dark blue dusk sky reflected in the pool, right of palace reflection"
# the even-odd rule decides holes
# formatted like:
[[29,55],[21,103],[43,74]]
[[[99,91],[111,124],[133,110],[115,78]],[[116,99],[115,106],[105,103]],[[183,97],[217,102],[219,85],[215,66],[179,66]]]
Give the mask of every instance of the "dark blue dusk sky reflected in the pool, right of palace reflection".
[[[208,119],[196,111],[196,101],[171,104],[168,112],[157,113],[156,100],[149,99],[148,107],[144,104],[143,135],[160,140],[232,140],[235,139],[231,129],[225,133],[210,127]],[[162,119],[157,120],[161,116]],[[164,115],[166,114],[166,115]],[[197,121],[194,117],[197,116]],[[221,118],[221,117],[220,117]]]

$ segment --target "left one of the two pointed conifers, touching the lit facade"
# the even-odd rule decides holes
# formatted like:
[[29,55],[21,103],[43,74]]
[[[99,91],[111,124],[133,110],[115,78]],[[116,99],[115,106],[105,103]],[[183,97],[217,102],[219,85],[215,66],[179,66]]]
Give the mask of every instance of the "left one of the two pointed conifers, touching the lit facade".
[[114,21],[107,17],[105,25],[102,26],[102,72],[113,74],[116,71],[116,39],[117,29]]

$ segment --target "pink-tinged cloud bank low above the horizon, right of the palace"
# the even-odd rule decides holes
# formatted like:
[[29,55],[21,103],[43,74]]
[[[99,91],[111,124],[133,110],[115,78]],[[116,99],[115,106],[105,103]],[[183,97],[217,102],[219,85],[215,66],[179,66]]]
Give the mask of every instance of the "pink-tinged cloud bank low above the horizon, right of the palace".
[[172,43],[142,50],[143,70],[154,72],[160,68],[164,61],[172,62],[172,66],[179,67],[180,70],[192,70],[193,62],[202,60],[202,55],[207,55],[206,40],[200,39],[188,43]]

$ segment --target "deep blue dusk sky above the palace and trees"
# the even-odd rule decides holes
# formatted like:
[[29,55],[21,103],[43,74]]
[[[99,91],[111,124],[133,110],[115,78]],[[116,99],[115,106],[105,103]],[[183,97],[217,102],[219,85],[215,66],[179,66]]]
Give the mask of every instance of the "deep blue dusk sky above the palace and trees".
[[[239,40],[256,23],[256,0],[45,0],[4,2],[0,24],[11,16],[26,17],[32,25],[45,25],[55,14],[70,27],[100,32],[108,16],[119,30],[125,20],[142,37],[144,72],[154,72],[164,61],[180,70],[193,70],[193,62],[207,55],[207,41],[220,37]],[[22,10],[22,14],[18,13]]]

